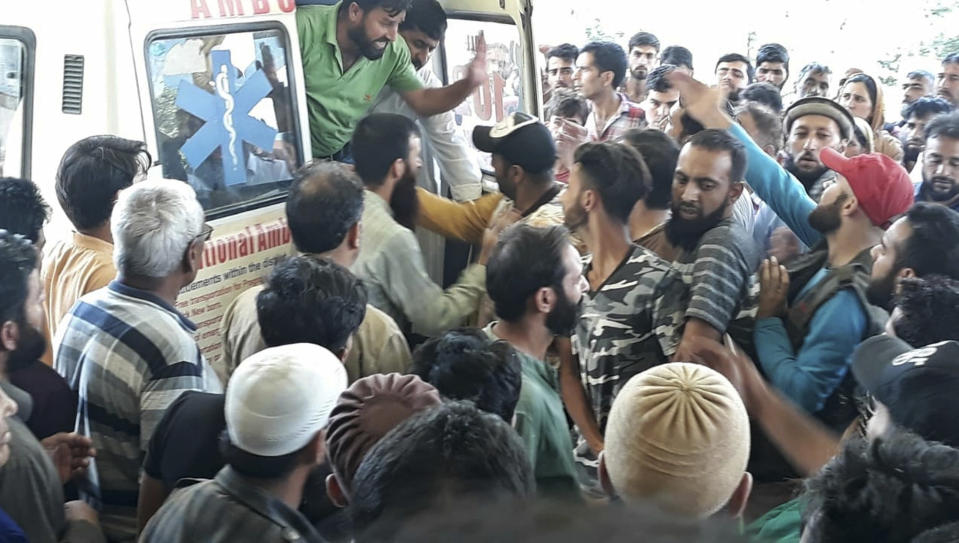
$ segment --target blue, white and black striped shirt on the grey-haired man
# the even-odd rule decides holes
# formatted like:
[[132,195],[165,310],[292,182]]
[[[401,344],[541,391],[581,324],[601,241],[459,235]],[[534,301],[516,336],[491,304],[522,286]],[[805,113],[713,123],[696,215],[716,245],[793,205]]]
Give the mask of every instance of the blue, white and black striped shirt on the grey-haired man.
[[76,431],[97,449],[84,498],[107,536],[136,535],[140,466],[167,406],[187,390],[222,386],[193,338],[196,326],[159,297],[118,281],[82,297],[64,318],[56,370],[78,392]]

